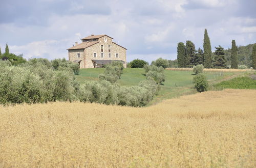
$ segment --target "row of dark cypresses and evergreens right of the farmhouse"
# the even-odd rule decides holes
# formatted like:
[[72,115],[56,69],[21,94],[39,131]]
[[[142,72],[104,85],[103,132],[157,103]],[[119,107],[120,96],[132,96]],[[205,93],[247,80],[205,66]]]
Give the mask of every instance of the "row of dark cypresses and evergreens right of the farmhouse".
[[[232,40],[231,53],[229,57],[230,67],[227,64],[227,58],[225,50],[222,46],[215,47],[215,52],[212,53],[210,38],[207,30],[204,31],[203,49],[198,48],[196,50],[195,44],[190,40],[186,41],[186,44],[179,42],[177,45],[177,61],[179,68],[192,68],[193,66],[202,64],[205,68],[239,68],[238,60],[238,46],[236,41]],[[256,44],[253,45],[251,55],[251,65],[256,69]]]

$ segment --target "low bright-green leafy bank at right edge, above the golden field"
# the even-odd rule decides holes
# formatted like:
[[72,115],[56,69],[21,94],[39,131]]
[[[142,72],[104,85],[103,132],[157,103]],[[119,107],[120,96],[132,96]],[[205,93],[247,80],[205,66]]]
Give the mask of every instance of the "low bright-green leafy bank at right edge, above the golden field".
[[236,77],[215,85],[217,89],[256,89],[256,80],[250,77]]

